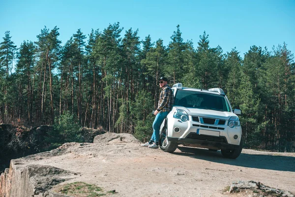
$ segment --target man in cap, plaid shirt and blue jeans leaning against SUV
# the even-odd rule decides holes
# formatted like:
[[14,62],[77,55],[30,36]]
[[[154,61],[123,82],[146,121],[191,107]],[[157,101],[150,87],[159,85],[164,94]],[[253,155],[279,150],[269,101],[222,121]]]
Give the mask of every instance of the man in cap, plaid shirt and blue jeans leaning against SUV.
[[167,117],[168,113],[172,109],[172,105],[174,104],[174,95],[172,89],[167,84],[168,80],[166,77],[161,77],[159,79],[160,88],[162,91],[160,93],[160,98],[158,102],[158,108],[154,112],[155,120],[152,124],[153,133],[149,142],[142,144],[142,146],[148,148],[158,148],[159,147],[159,135],[160,135],[160,127],[162,122]]

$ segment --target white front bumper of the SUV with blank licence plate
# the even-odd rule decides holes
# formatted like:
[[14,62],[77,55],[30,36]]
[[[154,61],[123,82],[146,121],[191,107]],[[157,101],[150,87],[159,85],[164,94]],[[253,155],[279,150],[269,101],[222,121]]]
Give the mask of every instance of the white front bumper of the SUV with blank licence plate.
[[[182,122],[175,119],[172,113],[167,116],[168,140],[179,144],[211,149],[238,149],[241,139],[241,127],[230,128],[228,121],[224,120],[222,124],[218,121],[205,123],[205,117],[200,117],[199,121],[194,121],[189,115],[189,120]],[[220,122],[220,120],[219,120]],[[175,128],[179,128],[176,132]],[[238,138],[235,139],[234,135]]]

